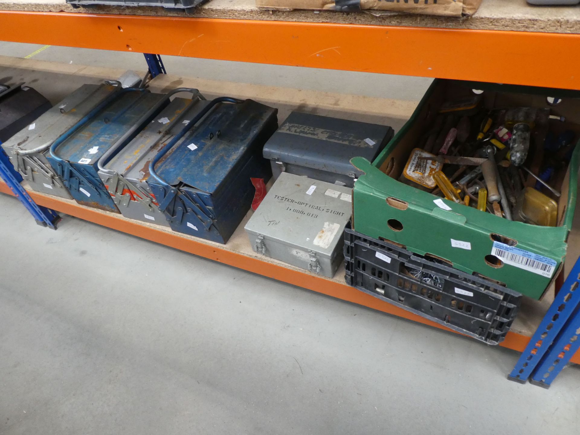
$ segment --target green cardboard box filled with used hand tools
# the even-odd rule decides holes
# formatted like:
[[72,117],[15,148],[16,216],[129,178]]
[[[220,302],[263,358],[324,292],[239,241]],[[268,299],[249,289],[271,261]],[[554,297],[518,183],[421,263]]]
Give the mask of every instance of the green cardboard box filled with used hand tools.
[[354,229],[541,298],[566,253],[580,92],[436,80],[374,162]]

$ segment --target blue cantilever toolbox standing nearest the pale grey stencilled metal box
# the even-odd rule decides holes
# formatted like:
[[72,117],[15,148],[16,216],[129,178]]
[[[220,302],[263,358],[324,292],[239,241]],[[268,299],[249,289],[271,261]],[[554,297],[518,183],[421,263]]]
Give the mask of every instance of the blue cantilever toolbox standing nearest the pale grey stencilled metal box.
[[262,147],[276,131],[277,111],[217,98],[159,151],[147,184],[173,230],[227,242],[251,205],[250,179],[270,179]]

